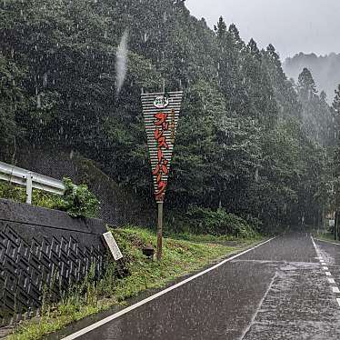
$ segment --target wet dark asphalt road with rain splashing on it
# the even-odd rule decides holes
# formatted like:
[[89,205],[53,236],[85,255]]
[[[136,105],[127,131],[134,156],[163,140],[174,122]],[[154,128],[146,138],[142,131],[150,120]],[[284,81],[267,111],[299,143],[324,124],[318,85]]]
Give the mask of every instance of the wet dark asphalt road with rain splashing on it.
[[277,237],[77,339],[338,340],[340,246],[315,243]]

